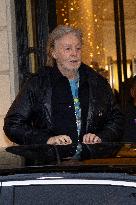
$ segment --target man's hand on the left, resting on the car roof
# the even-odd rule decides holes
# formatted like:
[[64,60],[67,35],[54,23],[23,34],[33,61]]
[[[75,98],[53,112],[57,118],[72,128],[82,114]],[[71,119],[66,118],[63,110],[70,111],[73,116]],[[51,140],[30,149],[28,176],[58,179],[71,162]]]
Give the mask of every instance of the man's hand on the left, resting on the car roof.
[[71,143],[72,140],[67,135],[58,135],[58,136],[50,137],[47,141],[47,144],[50,145],[68,145]]

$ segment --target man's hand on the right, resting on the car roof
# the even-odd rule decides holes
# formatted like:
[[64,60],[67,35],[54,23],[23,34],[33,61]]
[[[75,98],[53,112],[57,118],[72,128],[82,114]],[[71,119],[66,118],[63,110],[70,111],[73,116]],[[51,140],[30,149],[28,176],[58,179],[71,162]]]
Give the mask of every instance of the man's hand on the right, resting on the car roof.
[[83,136],[84,144],[96,144],[96,143],[101,143],[101,142],[102,142],[101,139],[95,134],[88,133]]

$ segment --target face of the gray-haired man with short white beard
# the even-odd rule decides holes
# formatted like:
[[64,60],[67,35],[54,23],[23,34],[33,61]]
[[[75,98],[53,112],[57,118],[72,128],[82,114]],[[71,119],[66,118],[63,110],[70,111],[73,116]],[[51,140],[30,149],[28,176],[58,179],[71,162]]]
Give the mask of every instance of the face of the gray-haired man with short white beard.
[[56,40],[52,53],[60,71],[77,70],[81,64],[81,41],[74,33]]

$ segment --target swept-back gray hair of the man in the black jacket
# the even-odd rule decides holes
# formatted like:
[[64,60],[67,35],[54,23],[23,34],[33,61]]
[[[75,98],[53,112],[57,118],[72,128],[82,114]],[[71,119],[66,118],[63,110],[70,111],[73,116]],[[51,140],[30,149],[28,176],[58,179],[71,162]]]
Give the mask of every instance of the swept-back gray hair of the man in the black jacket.
[[58,25],[50,34],[47,42],[47,62],[46,66],[53,67],[55,59],[52,56],[52,51],[55,46],[55,41],[62,38],[64,35],[74,33],[82,43],[82,32],[79,29],[72,28],[66,25]]

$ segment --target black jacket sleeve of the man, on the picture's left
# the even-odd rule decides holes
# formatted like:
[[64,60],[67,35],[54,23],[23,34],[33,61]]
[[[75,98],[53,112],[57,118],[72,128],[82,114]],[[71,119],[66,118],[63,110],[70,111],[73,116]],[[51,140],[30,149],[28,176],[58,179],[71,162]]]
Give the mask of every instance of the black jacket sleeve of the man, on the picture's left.
[[47,128],[32,126],[35,99],[36,82],[32,77],[19,92],[4,119],[4,132],[16,144],[43,144],[49,138]]

